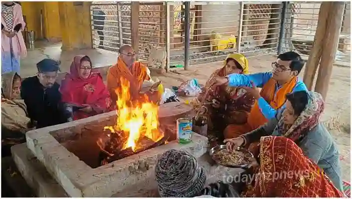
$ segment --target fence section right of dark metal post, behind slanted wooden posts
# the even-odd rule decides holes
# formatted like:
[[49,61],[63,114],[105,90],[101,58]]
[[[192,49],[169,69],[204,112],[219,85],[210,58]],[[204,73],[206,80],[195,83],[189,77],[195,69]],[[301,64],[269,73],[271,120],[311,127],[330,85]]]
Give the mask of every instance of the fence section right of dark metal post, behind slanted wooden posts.
[[[291,45],[285,45],[283,51],[296,50],[303,58],[308,59],[313,46],[320,3],[318,2],[294,2],[296,12],[287,9],[285,16],[286,29],[289,34],[285,35],[285,41]],[[350,66],[350,3],[345,3],[341,33],[334,64]]]

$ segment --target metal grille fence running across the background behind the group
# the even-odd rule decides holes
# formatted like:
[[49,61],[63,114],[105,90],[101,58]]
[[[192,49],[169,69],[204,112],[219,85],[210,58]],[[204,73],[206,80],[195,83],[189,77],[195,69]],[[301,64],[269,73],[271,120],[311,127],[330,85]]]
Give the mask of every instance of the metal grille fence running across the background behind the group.
[[[295,50],[307,58],[319,7],[316,2],[192,2],[185,17],[181,2],[140,3],[139,59],[148,60],[150,48],[158,46],[167,51],[168,67],[182,67],[185,59],[189,65],[219,62],[231,52],[254,57]],[[130,3],[93,2],[91,15],[94,48],[118,53],[121,45],[131,44]],[[346,3],[335,63],[349,65],[349,54]]]

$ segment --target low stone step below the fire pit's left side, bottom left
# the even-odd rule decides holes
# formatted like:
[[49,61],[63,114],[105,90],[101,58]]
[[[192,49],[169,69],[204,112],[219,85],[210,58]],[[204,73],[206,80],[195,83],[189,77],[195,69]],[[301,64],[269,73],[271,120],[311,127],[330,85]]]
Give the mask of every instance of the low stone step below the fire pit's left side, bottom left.
[[18,170],[37,197],[68,197],[47,168],[27,148],[26,143],[11,147],[11,153]]

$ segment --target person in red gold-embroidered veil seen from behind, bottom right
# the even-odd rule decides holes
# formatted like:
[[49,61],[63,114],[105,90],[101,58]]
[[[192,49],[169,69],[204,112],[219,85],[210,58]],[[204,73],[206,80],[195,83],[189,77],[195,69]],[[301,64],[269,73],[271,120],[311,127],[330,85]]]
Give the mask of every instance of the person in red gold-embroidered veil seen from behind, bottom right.
[[244,197],[343,197],[318,165],[304,156],[290,139],[260,139],[259,165]]

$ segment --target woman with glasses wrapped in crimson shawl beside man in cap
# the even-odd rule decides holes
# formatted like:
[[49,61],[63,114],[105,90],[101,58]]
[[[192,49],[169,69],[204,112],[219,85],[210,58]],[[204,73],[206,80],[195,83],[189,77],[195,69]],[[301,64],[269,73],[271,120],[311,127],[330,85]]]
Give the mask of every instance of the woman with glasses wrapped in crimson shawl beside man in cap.
[[62,80],[62,101],[73,108],[73,119],[78,120],[109,111],[111,99],[102,76],[92,70],[86,55],[74,58],[70,73]]

